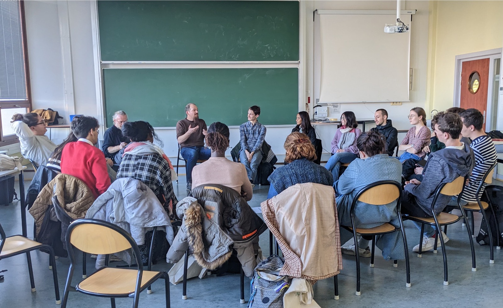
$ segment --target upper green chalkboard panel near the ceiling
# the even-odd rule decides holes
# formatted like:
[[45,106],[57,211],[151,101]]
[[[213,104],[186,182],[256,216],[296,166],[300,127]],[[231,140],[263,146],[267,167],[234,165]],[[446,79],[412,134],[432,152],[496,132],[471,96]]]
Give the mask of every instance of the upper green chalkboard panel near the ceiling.
[[98,1],[102,61],[298,61],[298,1]]

